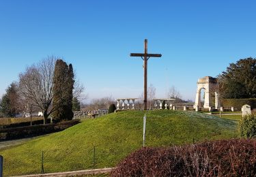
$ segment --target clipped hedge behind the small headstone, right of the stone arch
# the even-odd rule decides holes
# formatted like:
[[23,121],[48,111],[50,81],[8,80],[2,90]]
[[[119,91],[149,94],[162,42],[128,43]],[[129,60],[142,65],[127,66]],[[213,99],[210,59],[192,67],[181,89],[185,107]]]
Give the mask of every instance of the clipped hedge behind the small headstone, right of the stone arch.
[[222,99],[221,100],[221,106],[224,108],[236,108],[238,110],[241,110],[242,106],[248,104],[251,106],[251,108],[256,108],[256,99],[250,98],[250,99]]

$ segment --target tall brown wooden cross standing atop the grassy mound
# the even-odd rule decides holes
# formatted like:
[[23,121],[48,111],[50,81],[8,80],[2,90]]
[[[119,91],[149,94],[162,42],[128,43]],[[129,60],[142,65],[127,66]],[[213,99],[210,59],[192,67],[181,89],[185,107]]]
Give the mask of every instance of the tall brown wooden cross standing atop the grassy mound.
[[162,57],[162,54],[147,53],[147,39],[144,41],[144,53],[131,53],[130,57],[141,57],[144,61],[144,110],[147,110],[147,60],[150,57]]

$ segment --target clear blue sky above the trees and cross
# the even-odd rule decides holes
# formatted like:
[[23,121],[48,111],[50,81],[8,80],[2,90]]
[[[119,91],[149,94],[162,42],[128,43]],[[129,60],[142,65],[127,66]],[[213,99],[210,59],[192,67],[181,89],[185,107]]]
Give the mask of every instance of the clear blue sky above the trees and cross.
[[197,79],[256,56],[256,1],[0,0],[0,95],[47,55],[72,63],[89,99],[139,97],[148,84],[195,99]]

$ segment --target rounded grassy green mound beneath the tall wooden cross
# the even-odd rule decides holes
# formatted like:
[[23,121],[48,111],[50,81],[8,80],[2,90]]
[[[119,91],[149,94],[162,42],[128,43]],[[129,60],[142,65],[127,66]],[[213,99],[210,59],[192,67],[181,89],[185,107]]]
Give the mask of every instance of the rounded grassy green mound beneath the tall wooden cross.
[[113,167],[141,148],[143,116],[147,115],[146,146],[172,146],[238,136],[237,123],[196,112],[127,111],[88,119],[64,131],[0,150],[4,175],[38,174],[42,150],[44,172]]

